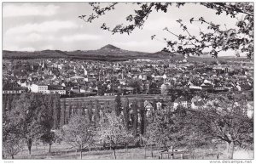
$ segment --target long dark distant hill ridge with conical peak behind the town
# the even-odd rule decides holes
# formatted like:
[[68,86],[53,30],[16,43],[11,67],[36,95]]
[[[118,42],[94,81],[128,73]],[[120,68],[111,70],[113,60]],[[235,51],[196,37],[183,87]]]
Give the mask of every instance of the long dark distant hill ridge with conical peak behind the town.
[[38,59],[38,58],[66,58],[66,59],[90,59],[103,61],[120,61],[128,59],[184,59],[182,54],[173,54],[166,51],[145,53],[130,51],[107,44],[96,50],[42,50],[42,51],[9,51],[3,50],[3,59]]

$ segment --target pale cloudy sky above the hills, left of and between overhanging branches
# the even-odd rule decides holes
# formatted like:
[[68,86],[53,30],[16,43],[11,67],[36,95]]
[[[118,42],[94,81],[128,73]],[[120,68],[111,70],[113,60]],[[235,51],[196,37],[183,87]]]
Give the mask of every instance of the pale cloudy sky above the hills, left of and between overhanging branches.
[[[106,4],[106,3],[105,3]],[[104,5],[104,4],[103,4]],[[233,28],[236,20],[225,14],[216,15],[214,10],[195,3],[186,3],[181,8],[174,6],[168,12],[154,11],[149,15],[143,29],[127,34],[114,34],[102,31],[102,23],[108,26],[126,23],[125,17],[134,13],[137,8],[132,3],[119,3],[113,11],[108,12],[92,23],[85,23],[79,15],[89,15],[92,8],[88,3],[3,3],[3,49],[17,51],[38,51],[59,49],[63,51],[93,50],[107,44],[116,47],[154,53],[166,46],[163,38],[176,39],[163,31],[168,27],[171,31],[183,34],[176,20],[182,19],[188,25],[192,35],[197,36],[199,28],[204,25],[190,24],[192,17],[218,23],[224,28]],[[151,36],[156,35],[156,40]]]

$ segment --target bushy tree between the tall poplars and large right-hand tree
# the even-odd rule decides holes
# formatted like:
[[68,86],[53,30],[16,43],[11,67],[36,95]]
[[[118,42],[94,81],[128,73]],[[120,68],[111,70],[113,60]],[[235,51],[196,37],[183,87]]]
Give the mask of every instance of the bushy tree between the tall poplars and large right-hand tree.
[[153,120],[149,123],[145,138],[150,144],[160,144],[164,147],[180,147],[188,145],[188,131],[185,121],[185,110],[178,108],[173,111],[156,110]]

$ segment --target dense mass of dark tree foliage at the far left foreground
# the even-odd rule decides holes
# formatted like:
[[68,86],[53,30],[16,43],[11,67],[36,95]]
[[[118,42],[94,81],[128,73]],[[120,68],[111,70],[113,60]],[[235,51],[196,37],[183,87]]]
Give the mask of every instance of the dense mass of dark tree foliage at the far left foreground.
[[11,109],[3,114],[3,144],[9,145],[6,151],[10,156],[15,156],[24,144],[31,155],[34,142],[41,139],[48,144],[55,142],[50,133],[54,126],[52,96],[22,93],[12,100]]

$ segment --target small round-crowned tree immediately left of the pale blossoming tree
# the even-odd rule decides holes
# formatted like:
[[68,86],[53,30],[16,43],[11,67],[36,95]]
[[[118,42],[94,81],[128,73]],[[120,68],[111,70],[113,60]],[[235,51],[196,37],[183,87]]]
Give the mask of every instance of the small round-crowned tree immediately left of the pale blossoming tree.
[[94,127],[84,116],[74,115],[63,127],[64,141],[73,148],[80,150],[80,158],[82,159],[83,149],[93,144],[94,131]]

